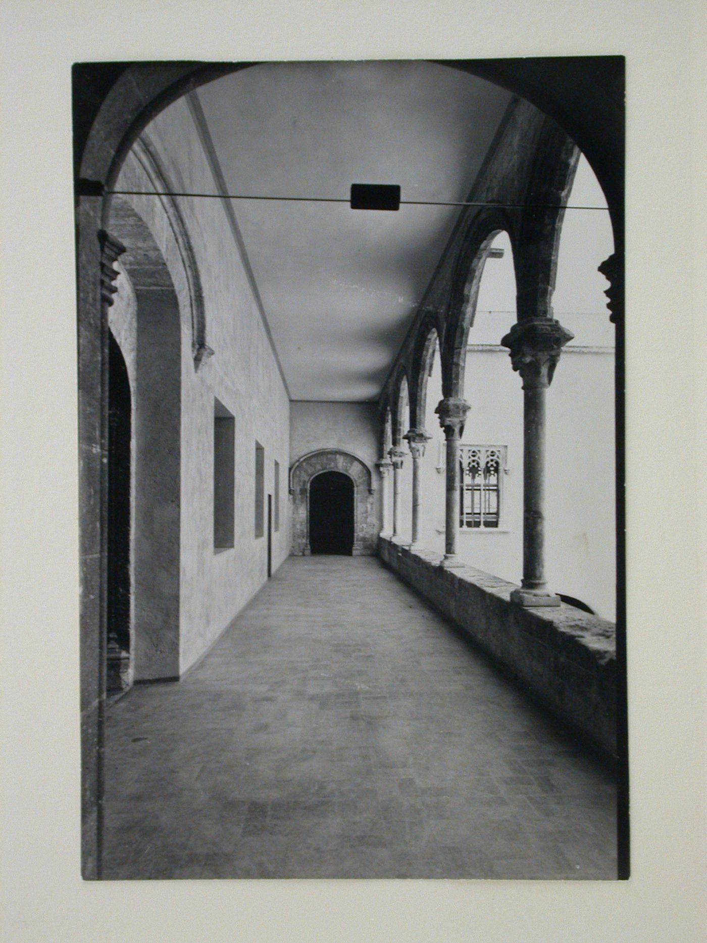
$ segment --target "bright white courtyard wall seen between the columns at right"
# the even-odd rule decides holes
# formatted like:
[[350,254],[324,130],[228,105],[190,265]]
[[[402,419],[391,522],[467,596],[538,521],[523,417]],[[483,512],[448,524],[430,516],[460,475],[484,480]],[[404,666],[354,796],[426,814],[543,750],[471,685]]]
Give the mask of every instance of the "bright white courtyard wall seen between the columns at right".
[[[494,327],[493,315],[478,317],[474,338],[490,340],[506,328],[504,322]],[[613,328],[605,315],[566,315],[562,323],[575,332],[576,340],[561,356],[547,393],[546,575],[553,591],[580,599],[602,618],[614,620],[615,357],[606,344]],[[465,398],[471,409],[462,441],[505,445],[507,472],[501,476],[501,527],[460,531],[458,552],[477,569],[519,584],[523,393],[505,348],[489,343],[469,349]]]

